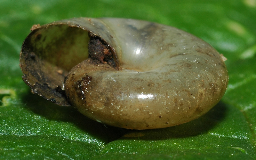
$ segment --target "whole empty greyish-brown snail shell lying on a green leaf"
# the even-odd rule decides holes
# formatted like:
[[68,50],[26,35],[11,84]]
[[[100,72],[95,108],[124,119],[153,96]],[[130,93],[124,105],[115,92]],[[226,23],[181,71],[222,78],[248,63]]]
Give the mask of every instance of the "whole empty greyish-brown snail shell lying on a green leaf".
[[171,127],[208,112],[227,90],[224,61],[190,33],[122,18],[33,25],[20,52],[32,93],[127,129]]

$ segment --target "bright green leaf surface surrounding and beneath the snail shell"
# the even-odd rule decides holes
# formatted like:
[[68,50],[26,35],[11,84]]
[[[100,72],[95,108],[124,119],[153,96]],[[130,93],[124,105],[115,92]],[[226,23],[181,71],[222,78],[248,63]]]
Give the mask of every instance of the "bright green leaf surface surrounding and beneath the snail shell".
[[[256,159],[256,0],[1,0],[0,159]],[[126,130],[30,93],[19,52],[33,24],[119,17],[172,25],[228,58],[228,90],[201,118]]]

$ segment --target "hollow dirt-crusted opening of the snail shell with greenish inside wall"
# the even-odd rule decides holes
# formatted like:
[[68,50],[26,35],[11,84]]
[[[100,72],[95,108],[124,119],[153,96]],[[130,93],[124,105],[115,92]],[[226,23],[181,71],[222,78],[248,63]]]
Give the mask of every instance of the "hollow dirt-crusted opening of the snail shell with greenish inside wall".
[[[91,34],[79,26],[62,23],[43,25],[32,30],[24,40],[20,53],[22,78],[32,93],[57,105],[70,106],[63,83],[70,69],[88,59],[88,33]],[[97,36],[91,37],[97,39]],[[108,47],[106,43],[104,45]],[[107,48],[106,56],[96,60],[115,67],[116,63],[110,55],[112,52],[109,52],[111,49]]]

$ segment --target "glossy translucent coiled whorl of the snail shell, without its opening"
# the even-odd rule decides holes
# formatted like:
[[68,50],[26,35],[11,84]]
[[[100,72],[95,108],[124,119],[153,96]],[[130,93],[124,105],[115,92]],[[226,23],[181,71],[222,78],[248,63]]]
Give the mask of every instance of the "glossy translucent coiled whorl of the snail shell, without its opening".
[[93,78],[86,103],[71,96],[74,87],[66,91],[84,115],[130,129],[170,127],[198,118],[225,93],[228,75],[221,56],[195,36],[145,21],[91,22],[107,26],[104,31],[113,36],[109,44],[116,49],[120,70],[90,71],[81,64],[70,71],[70,83],[85,74]]

